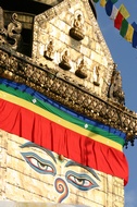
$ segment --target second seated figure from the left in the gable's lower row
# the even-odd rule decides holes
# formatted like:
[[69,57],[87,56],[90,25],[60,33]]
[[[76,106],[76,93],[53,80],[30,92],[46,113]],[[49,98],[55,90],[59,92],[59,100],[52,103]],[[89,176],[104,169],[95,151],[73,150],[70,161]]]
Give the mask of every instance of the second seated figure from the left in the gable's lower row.
[[70,70],[71,69],[71,64],[70,64],[70,56],[68,56],[68,51],[65,50],[63,56],[62,56],[62,60],[59,63],[59,66],[64,69],[64,70]]

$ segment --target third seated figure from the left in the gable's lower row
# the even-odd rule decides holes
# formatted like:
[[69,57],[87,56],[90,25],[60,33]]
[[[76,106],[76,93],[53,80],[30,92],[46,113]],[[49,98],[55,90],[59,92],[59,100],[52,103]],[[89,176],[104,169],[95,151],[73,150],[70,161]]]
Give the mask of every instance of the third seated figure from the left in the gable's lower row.
[[84,59],[80,60],[80,63],[78,65],[78,69],[75,72],[75,75],[80,77],[80,78],[86,78],[87,77],[86,65],[84,63]]

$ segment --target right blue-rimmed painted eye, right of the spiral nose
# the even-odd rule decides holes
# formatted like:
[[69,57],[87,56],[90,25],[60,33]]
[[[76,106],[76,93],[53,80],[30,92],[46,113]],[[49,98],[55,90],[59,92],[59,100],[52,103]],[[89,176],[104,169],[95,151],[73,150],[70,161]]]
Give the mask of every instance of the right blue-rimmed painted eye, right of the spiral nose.
[[65,178],[68,183],[82,191],[98,187],[98,184],[88,174],[78,174],[70,170],[66,172]]

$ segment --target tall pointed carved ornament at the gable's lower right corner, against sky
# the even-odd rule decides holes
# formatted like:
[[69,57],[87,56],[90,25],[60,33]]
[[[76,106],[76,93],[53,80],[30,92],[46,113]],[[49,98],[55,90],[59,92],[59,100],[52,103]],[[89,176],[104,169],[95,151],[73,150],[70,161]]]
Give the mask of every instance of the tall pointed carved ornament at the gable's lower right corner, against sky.
[[122,90],[122,77],[120,71],[116,71],[116,68],[117,64],[114,63],[108,97],[113,99],[114,101],[125,105],[125,95],[124,92]]

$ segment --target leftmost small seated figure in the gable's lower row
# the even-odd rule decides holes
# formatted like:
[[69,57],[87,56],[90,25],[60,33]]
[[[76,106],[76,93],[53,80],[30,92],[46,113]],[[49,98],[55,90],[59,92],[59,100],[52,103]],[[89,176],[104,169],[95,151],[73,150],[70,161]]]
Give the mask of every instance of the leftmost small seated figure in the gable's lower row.
[[48,60],[53,60],[54,58],[54,48],[53,48],[53,41],[50,40],[48,46],[47,46],[47,50],[45,51],[45,58],[47,58]]

